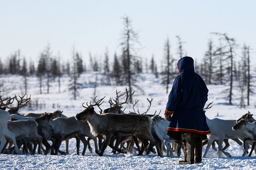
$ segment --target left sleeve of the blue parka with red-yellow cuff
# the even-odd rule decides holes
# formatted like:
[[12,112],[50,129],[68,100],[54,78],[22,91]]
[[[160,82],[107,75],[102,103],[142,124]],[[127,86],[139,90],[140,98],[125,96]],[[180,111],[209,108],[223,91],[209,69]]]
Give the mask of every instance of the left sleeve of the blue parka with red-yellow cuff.
[[178,103],[182,99],[181,82],[182,82],[181,75],[177,76],[173,81],[173,87],[168,96],[168,102],[166,104],[166,109],[165,109],[165,113],[167,114],[173,114],[173,112],[177,108]]

